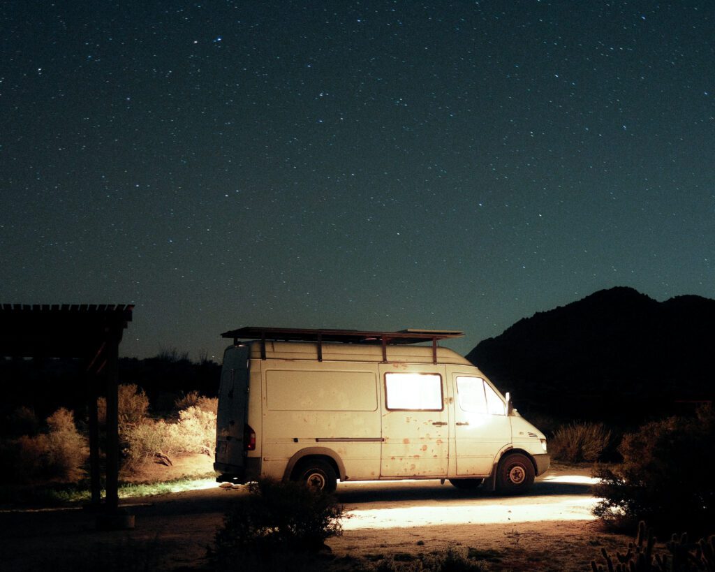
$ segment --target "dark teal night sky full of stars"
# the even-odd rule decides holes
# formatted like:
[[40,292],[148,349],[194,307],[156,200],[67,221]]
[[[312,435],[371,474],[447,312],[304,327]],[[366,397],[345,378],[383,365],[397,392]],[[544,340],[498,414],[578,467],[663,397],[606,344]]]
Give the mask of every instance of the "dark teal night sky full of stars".
[[464,330],[715,297],[715,3],[6,0],[0,302]]

